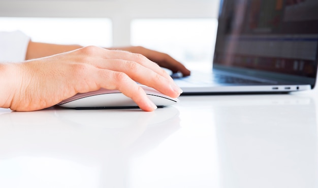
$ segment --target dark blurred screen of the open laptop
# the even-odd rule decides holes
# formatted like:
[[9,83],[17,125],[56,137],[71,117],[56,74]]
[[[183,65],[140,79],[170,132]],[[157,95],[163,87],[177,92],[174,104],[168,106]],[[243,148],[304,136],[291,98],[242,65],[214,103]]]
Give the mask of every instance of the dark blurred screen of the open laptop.
[[213,67],[315,78],[317,0],[220,0]]

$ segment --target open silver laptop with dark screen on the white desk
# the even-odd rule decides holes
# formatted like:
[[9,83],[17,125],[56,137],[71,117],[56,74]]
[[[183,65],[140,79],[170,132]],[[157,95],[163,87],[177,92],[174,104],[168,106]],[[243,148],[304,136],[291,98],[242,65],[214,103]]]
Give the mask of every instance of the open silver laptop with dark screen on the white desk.
[[220,0],[212,70],[174,78],[183,94],[313,89],[318,1]]

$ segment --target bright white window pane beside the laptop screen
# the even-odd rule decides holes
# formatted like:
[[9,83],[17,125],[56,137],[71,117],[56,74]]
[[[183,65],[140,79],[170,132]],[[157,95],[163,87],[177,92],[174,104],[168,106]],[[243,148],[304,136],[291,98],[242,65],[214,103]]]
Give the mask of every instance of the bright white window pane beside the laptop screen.
[[135,19],[131,44],[168,53],[177,60],[211,62],[216,19]]

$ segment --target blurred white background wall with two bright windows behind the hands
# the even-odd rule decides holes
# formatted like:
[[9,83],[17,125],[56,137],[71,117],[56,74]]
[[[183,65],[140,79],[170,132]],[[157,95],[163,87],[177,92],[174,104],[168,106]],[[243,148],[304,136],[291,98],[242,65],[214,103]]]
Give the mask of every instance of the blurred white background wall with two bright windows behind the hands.
[[219,0],[0,0],[0,30],[37,42],[143,46],[211,62]]

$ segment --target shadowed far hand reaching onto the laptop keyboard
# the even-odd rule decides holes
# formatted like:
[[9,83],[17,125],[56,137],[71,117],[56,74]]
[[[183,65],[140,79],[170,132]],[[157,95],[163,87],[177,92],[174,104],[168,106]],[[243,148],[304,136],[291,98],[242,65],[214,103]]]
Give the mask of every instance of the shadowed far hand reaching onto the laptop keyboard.
[[171,56],[165,53],[149,50],[143,47],[125,47],[117,48],[120,50],[125,50],[133,53],[139,53],[146,56],[151,61],[157,63],[161,67],[168,68],[172,72],[181,72],[184,77],[190,75],[190,70],[188,70],[183,64],[173,59]]

